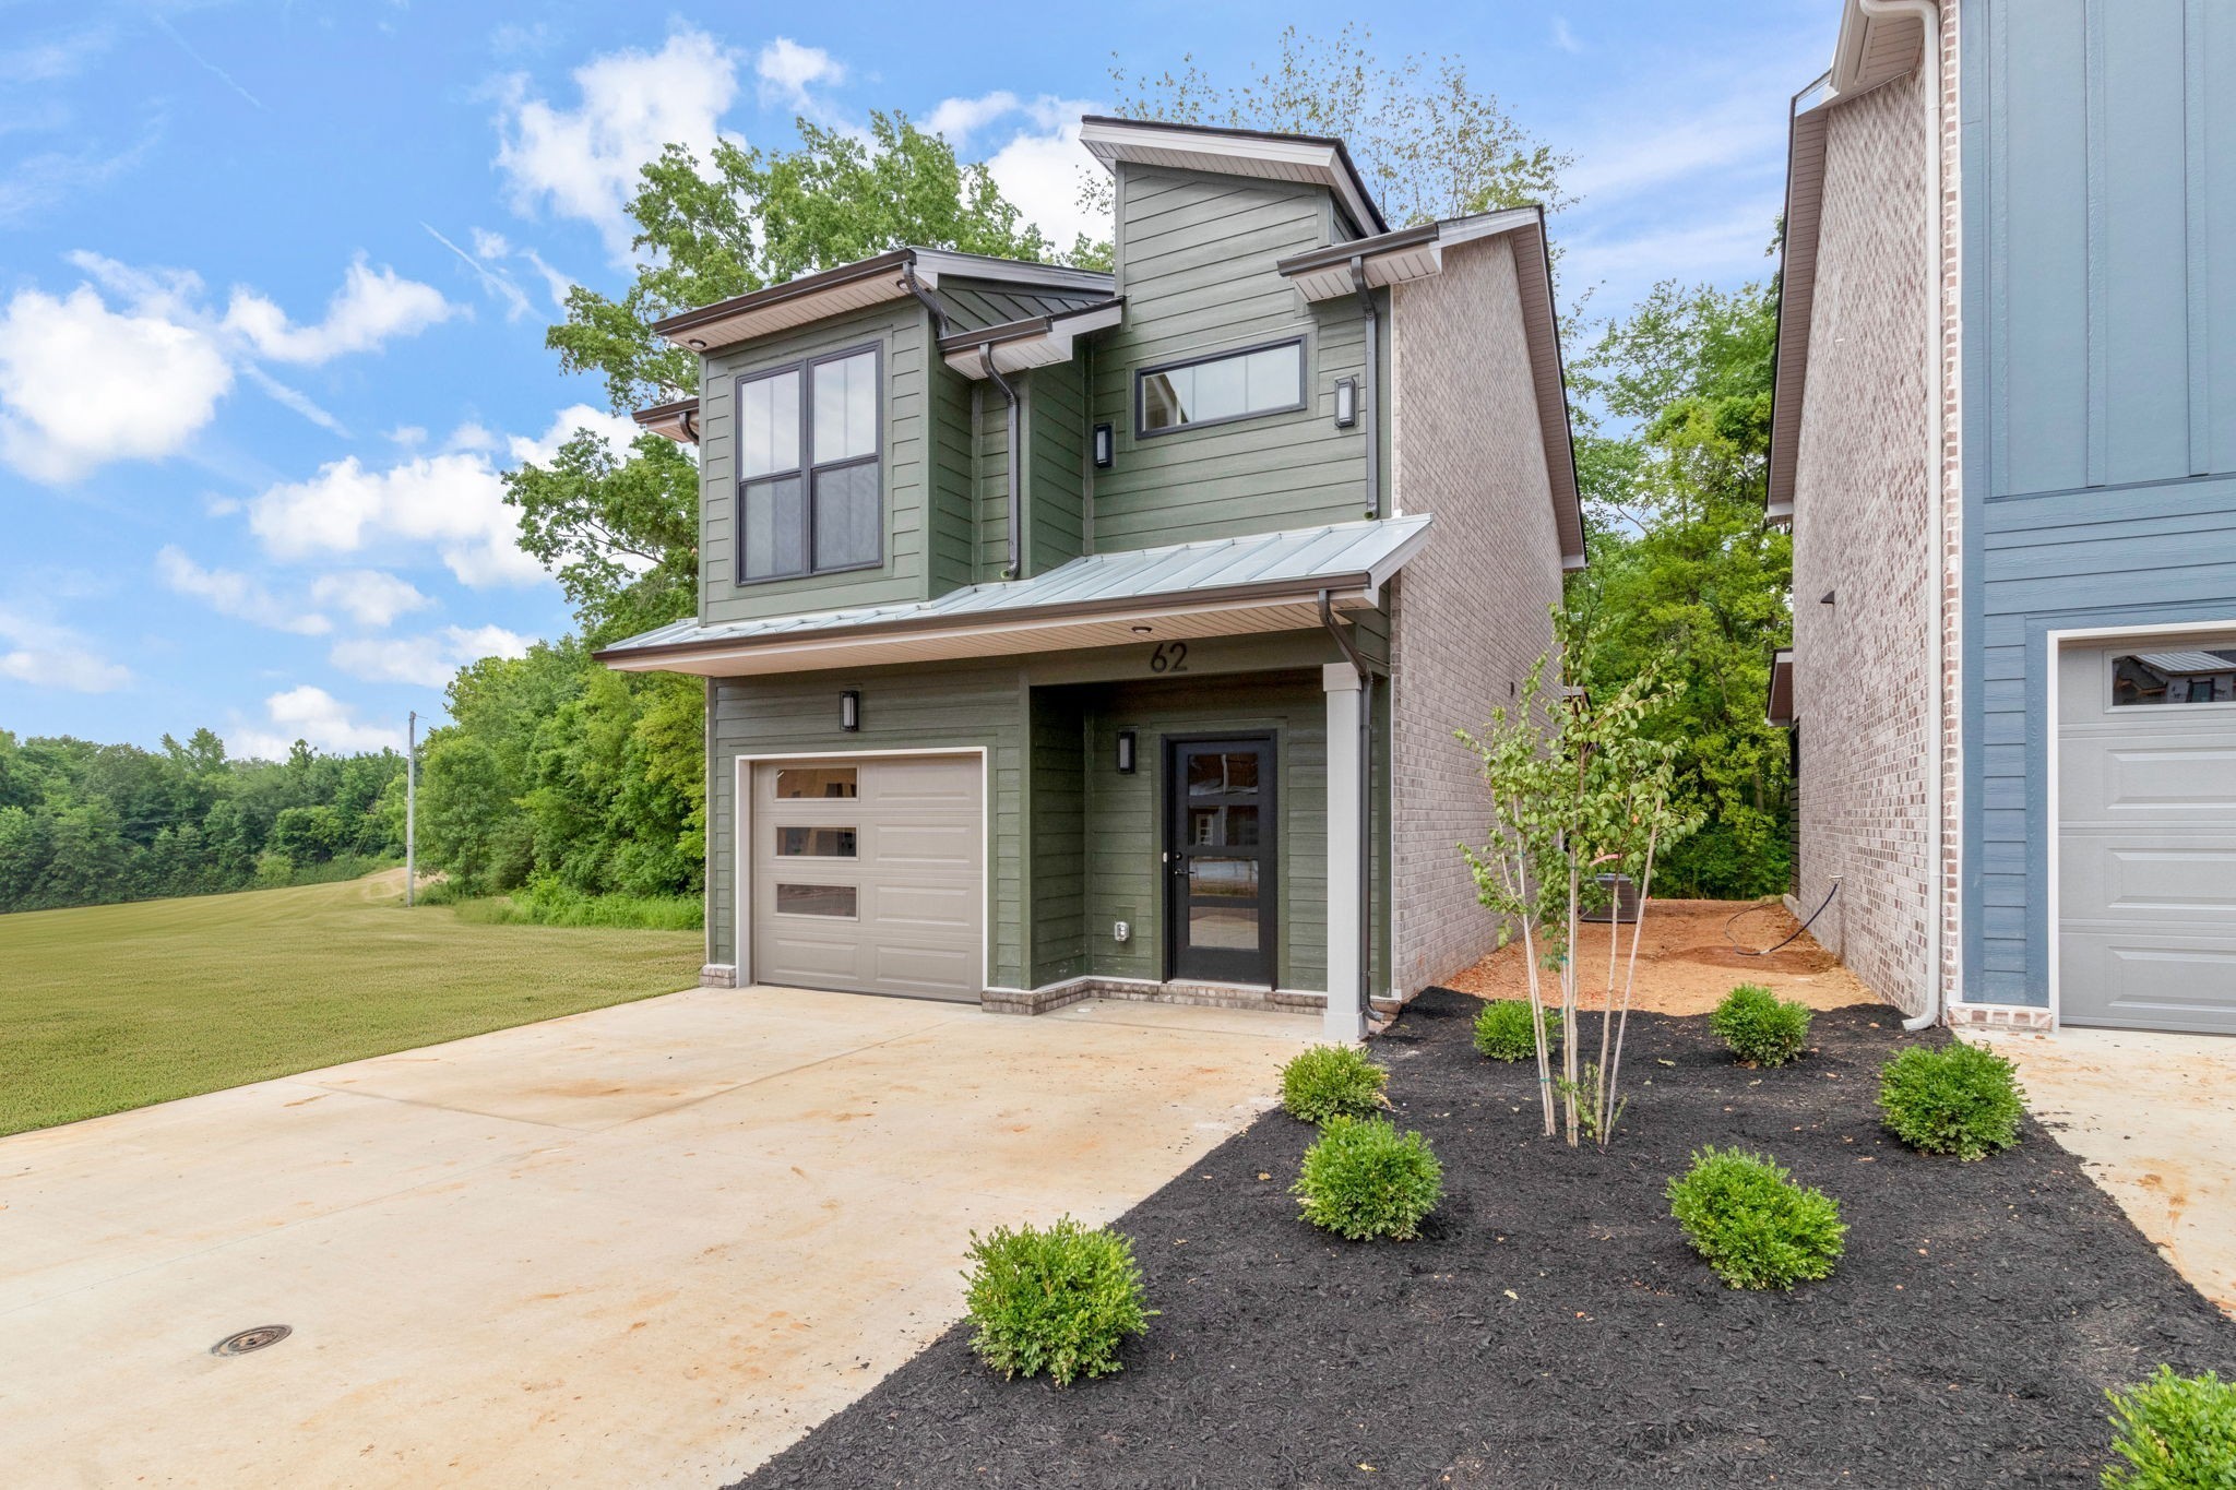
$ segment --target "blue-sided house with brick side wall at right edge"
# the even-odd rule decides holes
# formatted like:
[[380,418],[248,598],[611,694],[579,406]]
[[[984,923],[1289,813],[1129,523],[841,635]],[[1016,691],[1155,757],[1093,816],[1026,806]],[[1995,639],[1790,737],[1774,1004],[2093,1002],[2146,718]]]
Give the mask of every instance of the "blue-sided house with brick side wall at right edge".
[[1793,101],[1796,905],[1921,1019],[2236,1032],[2236,13],[1845,0]]

